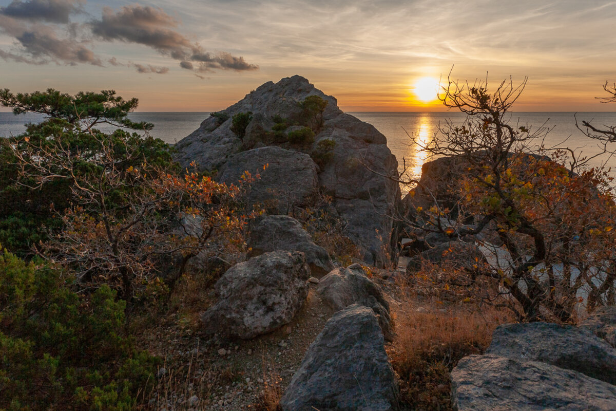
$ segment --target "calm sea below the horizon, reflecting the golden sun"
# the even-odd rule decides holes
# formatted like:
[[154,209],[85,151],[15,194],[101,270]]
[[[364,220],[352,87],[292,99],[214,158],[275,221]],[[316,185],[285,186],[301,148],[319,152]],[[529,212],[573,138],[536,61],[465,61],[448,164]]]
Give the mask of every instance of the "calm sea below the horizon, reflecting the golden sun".
[[[405,173],[409,179],[421,175],[421,166],[431,160],[426,152],[413,144],[413,139],[419,144],[428,144],[432,139],[442,138],[441,130],[448,123],[461,125],[466,116],[457,112],[351,112],[351,115],[375,126],[387,137],[387,145],[394,153],[399,163],[400,173]],[[136,112],[129,118],[133,121],[147,121],[154,124],[150,132],[169,144],[175,144],[199,127],[209,112]],[[533,145],[543,145],[548,149],[569,147],[578,157],[592,157],[602,151],[596,140],[586,137],[576,128],[577,121],[591,121],[594,126],[609,126],[616,124],[616,113],[611,112],[520,112],[510,113],[509,124],[516,127],[525,126],[530,131],[537,131],[545,137],[533,141]],[[0,136],[17,136],[25,131],[25,123],[36,123],[43,116],[32,113],[13,115],[0,113]],[[105,129],[105,127],[101,127]],[[616,150],[616,144],[612,151]],[[592,158],[588,164],[593,167],[607,166],[616,171],[616,157],[602,155]],[[614,173],[612,173],[614,174]]]

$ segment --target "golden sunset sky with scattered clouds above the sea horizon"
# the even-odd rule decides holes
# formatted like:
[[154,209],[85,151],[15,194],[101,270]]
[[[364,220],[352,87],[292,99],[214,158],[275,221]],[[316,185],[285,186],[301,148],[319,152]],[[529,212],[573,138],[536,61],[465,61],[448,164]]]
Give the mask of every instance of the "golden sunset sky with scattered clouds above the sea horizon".
[[299,74],[346,111],[439,111],[419,78],[529,77],[516,111],[614,111],[616,1],[0,0],[0,87],[220,110]]

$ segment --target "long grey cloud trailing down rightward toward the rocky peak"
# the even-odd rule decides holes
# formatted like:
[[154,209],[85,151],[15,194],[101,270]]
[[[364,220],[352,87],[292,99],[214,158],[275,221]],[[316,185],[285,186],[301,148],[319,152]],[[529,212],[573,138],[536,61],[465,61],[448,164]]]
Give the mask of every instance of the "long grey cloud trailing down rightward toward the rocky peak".
[[243,57],[235,57],[228,52],[215,54],[206,52],[198,43],[193,43],[173,28],[177,21],[158,7],[124,6],[119,11],[103,8],[100,20],[91,23],[92,33],[106,41],[124,41],[152,47],[162,55],[180,60],[180,67],[193,69],[191,62],[199,62],[200,71],[256,70],[254,64],[247,63]]

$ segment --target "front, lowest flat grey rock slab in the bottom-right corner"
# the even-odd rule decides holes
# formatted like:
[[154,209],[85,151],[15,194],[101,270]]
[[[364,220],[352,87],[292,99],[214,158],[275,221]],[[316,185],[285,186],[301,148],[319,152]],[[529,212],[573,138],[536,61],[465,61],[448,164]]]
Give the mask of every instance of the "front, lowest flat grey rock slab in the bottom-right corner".
[[542,362],[469,356],[453,369],[451,381],[458,411],[616,409],[616,386]]

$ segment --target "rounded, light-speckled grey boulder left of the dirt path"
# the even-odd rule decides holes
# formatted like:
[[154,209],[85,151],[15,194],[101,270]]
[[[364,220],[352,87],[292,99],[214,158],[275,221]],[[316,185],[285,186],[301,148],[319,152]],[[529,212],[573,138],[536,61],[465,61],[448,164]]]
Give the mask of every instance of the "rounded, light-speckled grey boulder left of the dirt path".
[[272,251],[236,264],[216,283],[219,301],[203,314],[205,331],[248,339],[287,324],[308,295],[309,276],[298,251]]

